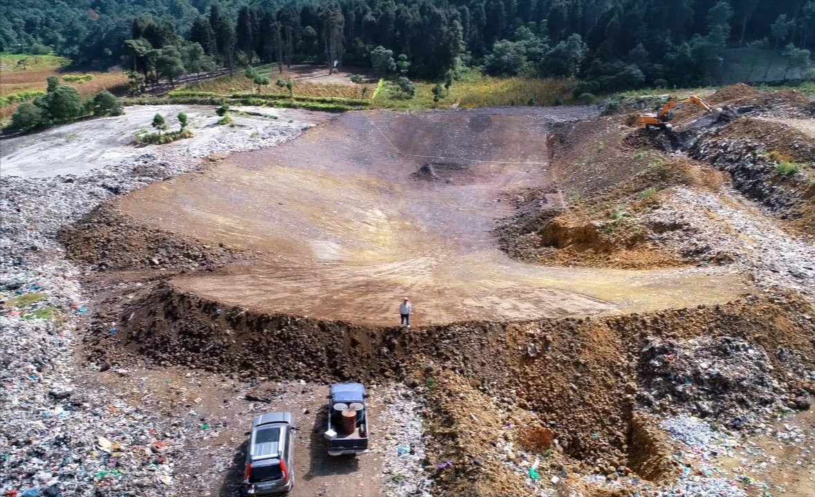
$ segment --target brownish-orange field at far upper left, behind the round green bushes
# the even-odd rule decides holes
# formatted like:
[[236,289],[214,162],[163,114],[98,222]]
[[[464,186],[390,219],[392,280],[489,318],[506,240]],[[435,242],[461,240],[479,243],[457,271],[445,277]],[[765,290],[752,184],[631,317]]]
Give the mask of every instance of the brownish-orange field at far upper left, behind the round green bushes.
[[[20,60],[26,60],[25,66]],[[64,73],[59,68],[70,61],[56,55],[20,55],[0,54],[0,102],[10,95],[20,95],[33,90],[46,90],[46,78],[59,77],[65,86],[76,88],[79,93],[89,98],[101,90],[126,90],[127,77],[122,73],[88,73],[90,81],[64,81],[64,76],[85,76],[86,73]],[[86,79],[86,78],[85,78]],[[11,118],[20,102],[0,105],[0,123]]]

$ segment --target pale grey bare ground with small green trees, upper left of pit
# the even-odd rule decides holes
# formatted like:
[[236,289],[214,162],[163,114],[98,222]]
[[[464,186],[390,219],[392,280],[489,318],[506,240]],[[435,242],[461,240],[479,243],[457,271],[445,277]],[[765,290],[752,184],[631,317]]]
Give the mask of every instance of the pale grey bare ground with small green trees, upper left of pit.
[[[234,126],[218,125],[220,117],[214,106],[135,105],[127,107],[123,116],[77,121],[25,134],[2,142],[0,174],[25,178],[82,174],[147,153],[178,152],[205,157],[234,147],[268,146],[328,118],[325,112],[297,109],[232,109]],[[153,116],[161,114],[172,130],[178,127],[176,117],[180,112],[187,114],[192,139],[164,145],[135,143],[137,131],[152,130]]]

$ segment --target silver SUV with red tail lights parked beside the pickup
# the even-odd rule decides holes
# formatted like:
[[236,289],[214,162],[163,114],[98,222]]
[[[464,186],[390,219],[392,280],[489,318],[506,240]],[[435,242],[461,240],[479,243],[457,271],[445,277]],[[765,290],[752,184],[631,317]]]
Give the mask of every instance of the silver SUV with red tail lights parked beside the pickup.
[[296,429],[289,412],[268,412],[253,420],[242,495],[277,495],[292,490]]

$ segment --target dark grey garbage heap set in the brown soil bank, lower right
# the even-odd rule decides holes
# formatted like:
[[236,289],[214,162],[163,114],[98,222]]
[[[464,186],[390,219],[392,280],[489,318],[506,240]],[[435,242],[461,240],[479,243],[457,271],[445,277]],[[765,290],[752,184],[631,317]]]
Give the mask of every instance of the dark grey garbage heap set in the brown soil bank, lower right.
[[791,407],[809,407],[805,390],[790,390],[773,376],[771,360],[761,345],[731,336],[651,337],[637,367],[639,400],[645,405],[678,408],[734,428],[747,427],[762,411],[786,407],[783,401],[788,398]]

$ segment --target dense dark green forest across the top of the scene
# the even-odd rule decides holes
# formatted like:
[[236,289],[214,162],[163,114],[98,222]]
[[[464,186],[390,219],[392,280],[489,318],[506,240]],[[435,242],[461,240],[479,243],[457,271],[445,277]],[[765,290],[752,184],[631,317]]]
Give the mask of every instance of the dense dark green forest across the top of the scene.
[[[728,47],[776,49],[803,74],[815,0],[4,0],[0,51],[172,79],[311,61],[441,78],[577,76],[580,90],[705,84]],[[383,47],[378,48],[377,47]]]

